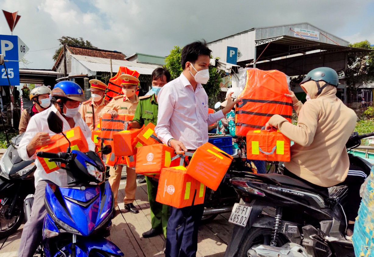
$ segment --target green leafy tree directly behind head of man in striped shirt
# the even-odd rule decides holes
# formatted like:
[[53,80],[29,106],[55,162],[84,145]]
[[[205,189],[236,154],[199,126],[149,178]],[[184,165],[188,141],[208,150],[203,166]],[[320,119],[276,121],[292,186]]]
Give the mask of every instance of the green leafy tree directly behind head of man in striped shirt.
[[[169,56],[165,58],[165,66],[166,69],[169,70],[172,80],[178,78],[183,71],[181,64],[181,53],[181,47],[174,46],[174,49],[170,51]],[[210,58],[212,58],[212,56],[210,56]],[[221,82],[222,73],[219,72],[216,68],[209,66],[209,81],[208,83],[203,85],[203,88],[208,95],[210,105],[214,105],[215,101],[213,101],[213,99],[215,99],[221,92]]]

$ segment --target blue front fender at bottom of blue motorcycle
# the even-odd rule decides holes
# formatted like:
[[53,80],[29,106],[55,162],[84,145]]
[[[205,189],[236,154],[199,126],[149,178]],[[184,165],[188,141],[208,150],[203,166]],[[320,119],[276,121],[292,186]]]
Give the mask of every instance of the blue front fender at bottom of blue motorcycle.
[[[120,248],[106,238],[79,237],[75,249],[76,257],[88,257],[93,250],[103,251],[114,256],[124,256]],[[71,244],[65,245],[61,250],[71,254]],[[55,257],[59,254],[57,252]]]

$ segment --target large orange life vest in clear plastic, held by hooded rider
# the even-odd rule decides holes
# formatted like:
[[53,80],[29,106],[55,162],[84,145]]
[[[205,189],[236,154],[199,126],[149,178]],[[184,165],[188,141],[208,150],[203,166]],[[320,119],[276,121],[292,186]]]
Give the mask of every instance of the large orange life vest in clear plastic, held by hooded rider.
[[274,114],[279,114],[289,122],[292,119],[292,100],[287,77],[283,72],[248,69],[246,86],[238,99],[242,99],[235,109],[237,136],[246,136],[249,130],[261,129]]

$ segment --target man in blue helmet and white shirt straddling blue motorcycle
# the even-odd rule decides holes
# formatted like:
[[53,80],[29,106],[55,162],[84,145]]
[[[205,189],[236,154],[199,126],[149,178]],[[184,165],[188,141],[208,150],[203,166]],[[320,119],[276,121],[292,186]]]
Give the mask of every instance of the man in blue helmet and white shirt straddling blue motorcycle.
[[[81,87],[72,81],[61,81],[52,90],[52,106],[46,111],[35,114],[27,126],[24,136],[19,143],[18,154],[23,160],[36,159],[36,150],[42,146],[53,144],[50,136],[53,133],[48,126],[47,117],[50,112],[55,112],[63,121],[63,130],[80,127],[85,135],[89,150],[95,151],[95,145],[91,140],[91,130],[83,121],[78,112],[80,102],[84,101]],[[36,171],[34,204],[31,208],[31,216],[28,218],[21,236],[18,250],[19,257],[31,257],[34,255],[41,239],[43,220],[46,216],[44,206],[45,187],[47,181],[58,186],[67,186],[66,171],[59,169],[52,173],[46,173],[39,160],[35,160]]]

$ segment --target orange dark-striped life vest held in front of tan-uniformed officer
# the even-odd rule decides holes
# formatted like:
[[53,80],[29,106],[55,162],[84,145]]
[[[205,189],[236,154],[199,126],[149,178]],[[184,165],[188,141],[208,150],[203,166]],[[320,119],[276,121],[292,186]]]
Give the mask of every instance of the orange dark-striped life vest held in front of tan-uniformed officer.
[[134,115],[129,114],[118,114],[116,118],[112,118],[108,113],[103,114],[101,120],[101,140],[104,145],[111,145],[112,149],[114,149],[113,134],[123,131],[123,123],[125,121],[132,121],[133,118]]

